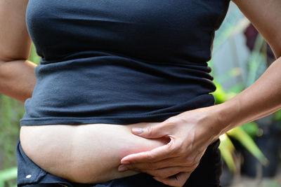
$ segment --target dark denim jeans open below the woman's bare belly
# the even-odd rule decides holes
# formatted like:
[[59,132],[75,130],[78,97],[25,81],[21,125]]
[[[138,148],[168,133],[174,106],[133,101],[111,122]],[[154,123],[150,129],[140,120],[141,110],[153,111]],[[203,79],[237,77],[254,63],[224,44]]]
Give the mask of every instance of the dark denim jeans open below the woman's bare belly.
[[[221,153],[218,149],[220,141],[217,140],[214,144],[211,144],[205,154],[203,155],[200,165],[190,175],[190,178],[185,183],[185,187],[218,187],[219,177],[221,176]],[[164,187],[163,183],[155,181],[149,174],[141,173],[133,176],[128,176],[122,179],[114,179],[105,183],[96,184],[80,184],[71,183],[65,179],[61,179],[58,176],[54,176],[44,171],[30,160],[25,155],[20,142],[17,146],[18,157],[18,186],[28,186],[31,184],[46,184],[51,183],[50,186],[83,186],[83,187],[143,187],[154,186]],[[32,185],[33,186],[33,185]],[[30,187],[32,187],[30,186]],[[35,186],[34,186],[35,187]],[[42,186],[44,187],[44,186]]]

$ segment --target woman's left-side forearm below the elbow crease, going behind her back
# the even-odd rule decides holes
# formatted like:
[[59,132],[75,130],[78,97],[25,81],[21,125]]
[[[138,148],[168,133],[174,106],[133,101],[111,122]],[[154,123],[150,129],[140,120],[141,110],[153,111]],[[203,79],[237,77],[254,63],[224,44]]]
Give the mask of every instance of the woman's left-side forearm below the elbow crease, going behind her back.
[[0,61],[0,93],[20,102],[32,96],[37,65],[29,60]]

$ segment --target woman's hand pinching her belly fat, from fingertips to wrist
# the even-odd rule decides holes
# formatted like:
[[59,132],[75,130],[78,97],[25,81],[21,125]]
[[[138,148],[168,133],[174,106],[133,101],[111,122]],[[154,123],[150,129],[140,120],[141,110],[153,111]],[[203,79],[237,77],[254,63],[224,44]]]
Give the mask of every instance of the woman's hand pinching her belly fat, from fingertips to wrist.
[[119,171],[132,169],[155,176],[169,186],[183,186],[199,165],[207,146],[218,139],[221,130],[211,107],[196,109],[171,117],[159,125],[133,128],[133,134],[148,139],[167,137],[169,143],[152,151],[122,158]]

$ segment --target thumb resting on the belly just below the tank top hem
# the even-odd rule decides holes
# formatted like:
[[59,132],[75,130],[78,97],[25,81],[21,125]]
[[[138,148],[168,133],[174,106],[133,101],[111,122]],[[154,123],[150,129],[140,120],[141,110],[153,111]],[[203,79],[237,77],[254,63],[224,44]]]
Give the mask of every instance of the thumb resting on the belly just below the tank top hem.
[[138,128],[133,127],[131,129],[133,134],[136,134],[139,137],[143,138],[161,138],[166,136],[169,133],[169,125],[165,123],[159,123],[157,125],[150,125],[148,127]]

